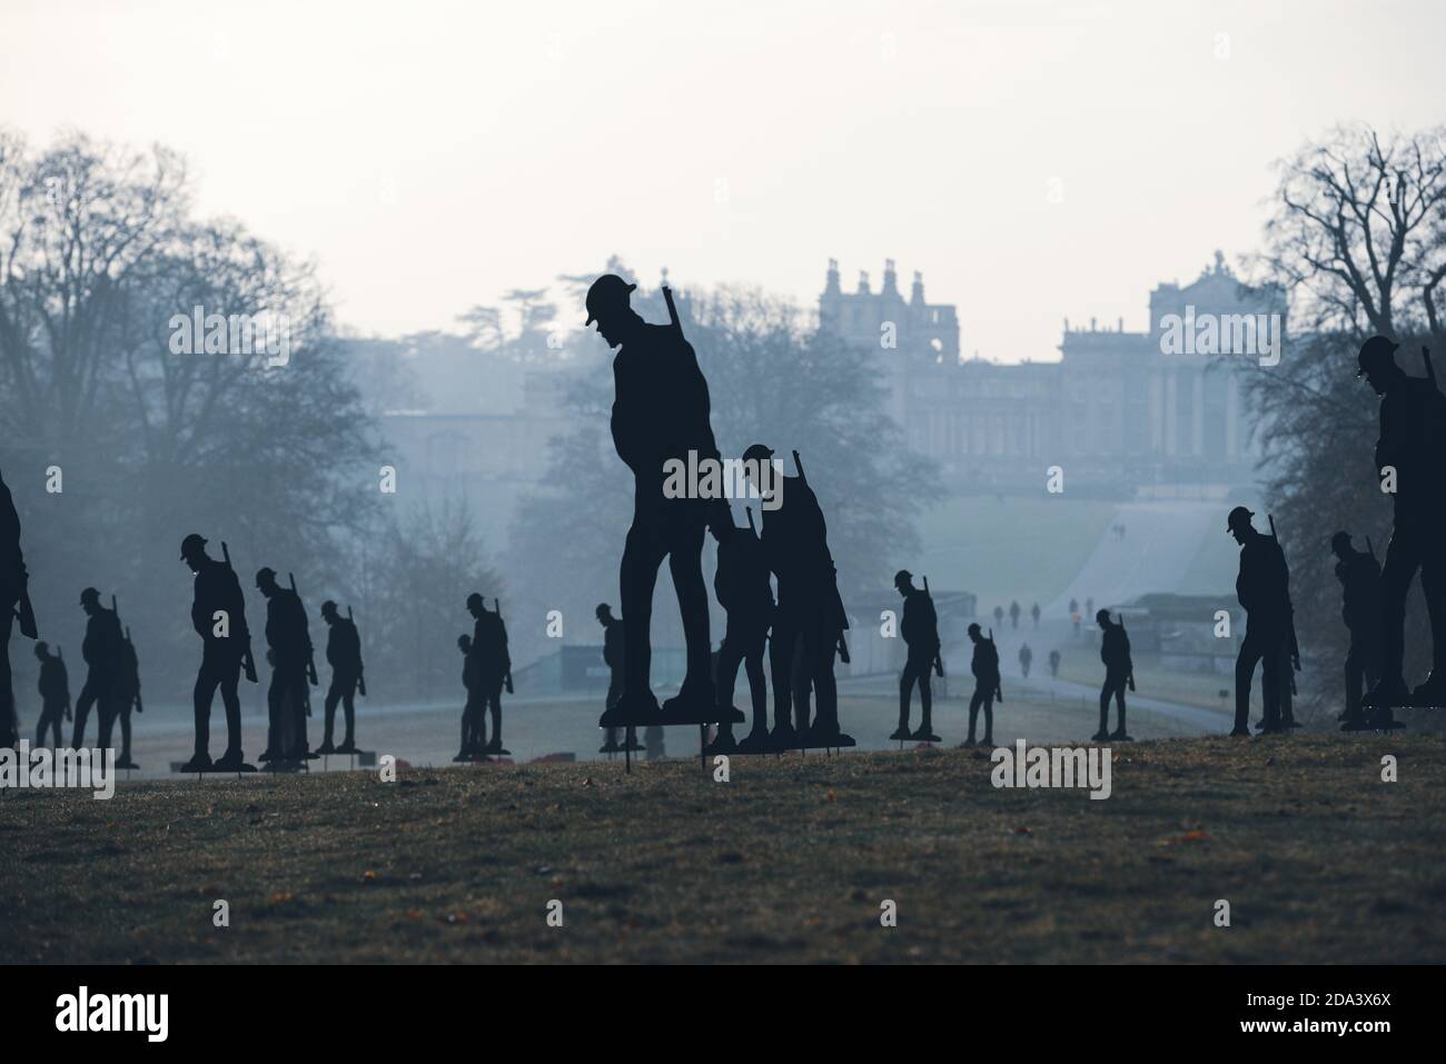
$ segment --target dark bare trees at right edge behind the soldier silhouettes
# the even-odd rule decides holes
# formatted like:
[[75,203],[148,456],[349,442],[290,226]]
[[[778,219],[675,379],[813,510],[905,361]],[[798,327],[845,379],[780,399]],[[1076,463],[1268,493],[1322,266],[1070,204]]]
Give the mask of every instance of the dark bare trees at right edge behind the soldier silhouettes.
[[[1329,541],[1346,531],[1365,549],[1369,536],[1384,561],[1392,518],[1374,466],[1379,399],[1355,376],[1356,350],[1382,334],[1400,343],[1407,373],[1424,376],[1423,346],[1446,370],[1446,126],[1339,127],[1278,172],[1255,265],[1288,292],[1291,341],[1280,366],[1251,377],[1251,395],[1270,425],[1265,497],[1291,562],[1301,648],[1319,664],[1310,695],[1333,718],[1349,639]],[[1430,666],[1419,584],[1406,636],[1406,678],[1417,684]]]

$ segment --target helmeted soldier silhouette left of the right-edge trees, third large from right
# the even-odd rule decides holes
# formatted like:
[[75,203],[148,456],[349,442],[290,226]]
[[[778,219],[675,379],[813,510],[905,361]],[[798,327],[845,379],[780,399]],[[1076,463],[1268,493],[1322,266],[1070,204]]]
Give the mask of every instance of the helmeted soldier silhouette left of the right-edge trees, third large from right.
[[1285,679],[1285,640],[1290,633],[1290,571],[1285,555],[1271,536],[1251,525],[1255,516],[1244,506],[1231,510],[1226,529],[1241,545],[1241,574],[1235,580],[1235,597],[1245,607],[1245,639],[1235,658],[1235,729],[1232,736],[1249,736],[1251,679],[1255,665],[1261,665],[1261,701],[1264,720],[1261,732],[1284,732],[1280,713],[1280,685]]

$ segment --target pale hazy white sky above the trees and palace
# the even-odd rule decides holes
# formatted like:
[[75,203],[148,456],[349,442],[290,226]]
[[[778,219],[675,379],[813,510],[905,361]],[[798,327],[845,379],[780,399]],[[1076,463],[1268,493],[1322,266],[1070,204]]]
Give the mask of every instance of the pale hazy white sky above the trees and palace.
[[894,257],[1014,361],[1255,249],[1304,137],[1446,117],[1443,30],[1426,0],[0,0],[0,123],[179,149],[363,331],[610,253],[810,304],[830,256],[849,291]]

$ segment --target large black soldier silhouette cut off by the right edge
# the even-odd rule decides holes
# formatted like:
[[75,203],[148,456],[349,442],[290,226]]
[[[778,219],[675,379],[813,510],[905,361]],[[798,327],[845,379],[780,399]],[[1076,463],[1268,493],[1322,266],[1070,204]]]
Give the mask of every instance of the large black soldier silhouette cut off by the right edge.
[[[1395,523],[1381,570],[1381,678],[1365,698],[1379,710],[1446,705],[1446,398],[1434,374],[1406,376],[1395,348],[1385,337],[1371,337],[1361,346],[1356,370],[1381,396],[1375,468],[1382,484],[1390,477],[1395,486]],[[1424,348],[1421,354],[1430,373],[1430,356]],[[1432,623],[1432,672],[1407,691],[1406,594],[1417,570]]]

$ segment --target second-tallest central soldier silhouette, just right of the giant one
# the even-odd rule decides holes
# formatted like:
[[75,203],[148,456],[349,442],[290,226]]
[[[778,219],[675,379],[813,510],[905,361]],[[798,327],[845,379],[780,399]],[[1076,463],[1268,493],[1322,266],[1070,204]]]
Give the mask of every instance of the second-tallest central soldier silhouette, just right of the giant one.
[[[839,598],[837,571],[829,552],[829,525],[803,468],[795,477],[778,473],[765,477],[765,467],[772,473],[772,455],[763,444],[752,444],[743,451],[743,468],[763,493],[761,541],[768,567],[778,578],[778,604],[768,648],[774,679],[774,733],[769,740],[775,749],[853,746],[852,736],[839,730],[833,656],[844,646],[849,619]],[[798,464],[797,451],[794,463]],[[790,720],[790,681],[800,640],[814,692],[814,720],[804,733]]]

